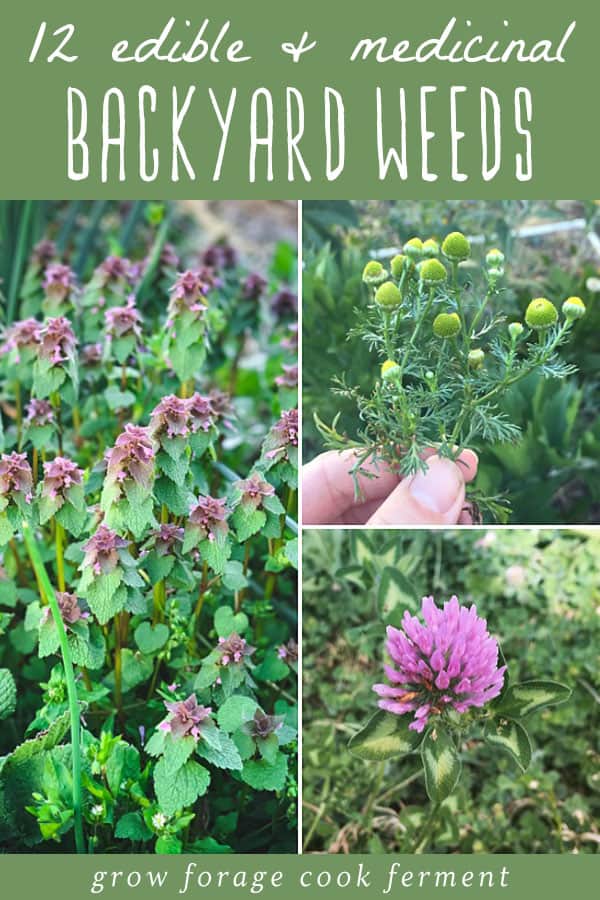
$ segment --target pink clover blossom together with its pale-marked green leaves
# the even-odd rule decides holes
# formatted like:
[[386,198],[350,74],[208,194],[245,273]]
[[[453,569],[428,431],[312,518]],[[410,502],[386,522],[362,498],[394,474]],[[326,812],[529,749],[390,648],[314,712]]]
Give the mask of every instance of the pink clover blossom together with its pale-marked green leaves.
[[[406,611],[401,628],[388,626],[388,683],[373,687],[380,710],[349,748],[381,761],[382,771],[386,760],[418,752],[435,811],[458,785],[467,739],[507,752],[524,771],[532,750],[523,720],[564,702],[571,690],[551,681],[511,684],[498,641],[476,606],[452,597],[440,608],[425,597],[421,612],[423,621]],[[420,849],[427,839],[419,836]]]

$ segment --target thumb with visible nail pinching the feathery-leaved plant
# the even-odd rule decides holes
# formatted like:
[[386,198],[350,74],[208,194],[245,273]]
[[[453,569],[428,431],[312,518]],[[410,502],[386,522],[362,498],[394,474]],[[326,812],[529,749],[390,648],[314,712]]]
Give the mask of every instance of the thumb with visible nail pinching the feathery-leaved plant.
[[432,456],[426,472],[405,478],[367,525],[456,525],[465,503],[465,480],[449,459]]

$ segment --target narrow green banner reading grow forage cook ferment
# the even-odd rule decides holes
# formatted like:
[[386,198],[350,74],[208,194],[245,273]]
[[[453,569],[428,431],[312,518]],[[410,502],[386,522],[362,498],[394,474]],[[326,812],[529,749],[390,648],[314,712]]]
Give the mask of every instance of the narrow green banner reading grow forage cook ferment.
[[[34,862],[35,860],[35,862]],[[451,894],[563,900],[596,896],[593,857],[562,856],[11,856],[0,862],[3,889],[61,900],[102,896],[231,898],[394,897]]]

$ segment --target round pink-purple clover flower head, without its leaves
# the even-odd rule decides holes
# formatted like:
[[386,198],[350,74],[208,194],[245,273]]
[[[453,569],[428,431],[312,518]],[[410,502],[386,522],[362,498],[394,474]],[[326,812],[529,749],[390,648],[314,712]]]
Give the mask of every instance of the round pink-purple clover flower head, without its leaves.
[[407,611],[402,630],[388,626],[386,648],[396,668],[384,666],[391,684],[373,686],[384,698],[381,709],[414,713],[409,728],[419,732],[445,707],[463,713],[493,700],[506,671],[498,666],[498,644],[475,606],[460,606],[452,597],[439,609],[433,597],[424,597],[422,614],[424,625]]

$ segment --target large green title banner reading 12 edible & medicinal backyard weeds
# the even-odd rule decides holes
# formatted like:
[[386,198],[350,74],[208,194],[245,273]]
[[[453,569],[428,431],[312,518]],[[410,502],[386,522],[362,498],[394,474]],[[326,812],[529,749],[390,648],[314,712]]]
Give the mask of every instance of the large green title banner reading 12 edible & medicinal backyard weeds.
[[0,196],[588,197],[598,18],[589,0],[5,5]]

